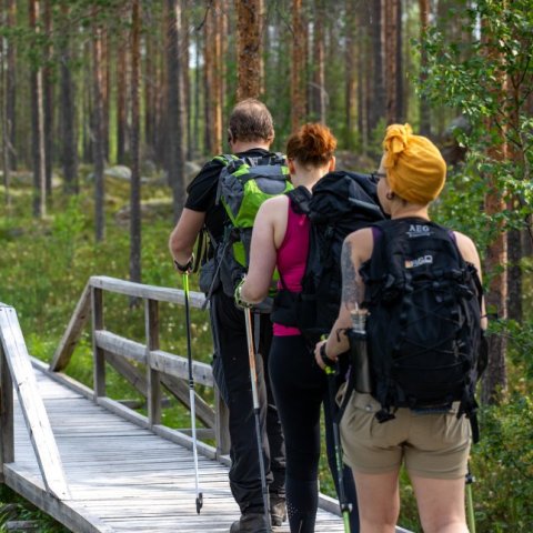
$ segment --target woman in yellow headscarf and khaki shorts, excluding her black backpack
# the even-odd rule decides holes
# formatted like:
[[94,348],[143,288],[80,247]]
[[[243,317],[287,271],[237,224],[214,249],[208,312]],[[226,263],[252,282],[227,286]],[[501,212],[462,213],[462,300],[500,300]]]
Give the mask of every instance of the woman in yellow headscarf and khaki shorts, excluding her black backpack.
[[[430,221],[429,205],[439,197],[446,177],[446,165],[439,149],[429,139],[413,134],[409,124],[392,124],[386,129],[378,175],[380,202],[391,220],[378,228],[356,231],[344,241],[341,310],[328,341],[322,341],[315,349],[316,362],[322,368],[328,359],[335,361],[349,349],[345,332],[351,330],[354,314],[364,313],[360,304],[363,301],[368,304],[371,292],[365,293],[369,288],[362,274],[370,283],[368,272],[372,272],[374,258],[390,259],[383,248],[391,247],[392,241],[394,250],[402,247],[410,250],[408,241],[422,237],[431,241],[439,235],[439,239],[449,241],[446,245],[459,251],[457,257],[465,265],[472,265],[469,269],[472,269],[473,276],[475,268],[481,280],[480,258],[472,240]],[[391,249],[386,248],[386,251]],[[414,257],[405,261],[403,268],[423,265],[425,272],[431,273],[432,262],[430,255]],[[483,309],[483,303],[481,306]],[[484,314],[479,308],[477,313],[477,316]],[[384,345],[388,335],[392,334],[388,325],[381,329]],[[486,319],[481,318],[480,325],[486,328]],[[372,331],[375,330],[366,329],[369,335]],[[374,345],[375,336],[368,339],[370,346]],[[371,368],[374,363],[371,354]],[[430,409],[394,405],[385,409],[390,406],[376,400],[383,395],[374,389],[375,385],[371,385],[360,392],[361,388],[356,388],[348,399],[341,422],[344,460],[352,467],[358,491],[361,533],[395,531],[402,464],[413,484],[424,532],[467,533],[464,476],[471,431],[465,416],[457,416],[460,402],[439,404],[436,409],[434,405]]]

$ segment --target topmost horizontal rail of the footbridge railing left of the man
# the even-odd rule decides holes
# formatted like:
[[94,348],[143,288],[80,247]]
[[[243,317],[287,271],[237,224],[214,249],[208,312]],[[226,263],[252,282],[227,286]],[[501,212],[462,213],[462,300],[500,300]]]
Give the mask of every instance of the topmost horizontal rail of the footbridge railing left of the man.
[[[117,278],[109,278],[107,275],[92,275],[89,280],[89,283],[91,286],[129,296],[157,300],[158,302],[178,303],[180,305],[183,305],[185,302],[184,294],[181,289],[144,285],[142,283],[119,280]],[[192,308],[202,308],[205,301],[205,295],[203,293],[190,291],[189,295]]]

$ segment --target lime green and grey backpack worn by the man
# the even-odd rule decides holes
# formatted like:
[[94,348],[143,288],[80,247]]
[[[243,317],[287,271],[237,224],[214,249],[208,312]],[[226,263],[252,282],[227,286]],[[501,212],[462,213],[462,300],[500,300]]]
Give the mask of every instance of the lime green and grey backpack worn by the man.
[[293,187],[281,153],[242,158],[223,154],[214,159],[224,164],[215,203],[224,207],[228,222],[222,240],[213,242],[215,275],[208,298],[219,280],[224,293],[233,298],[235,286],[248,271],[252,228],[259,208],[269,198],[284,194]]

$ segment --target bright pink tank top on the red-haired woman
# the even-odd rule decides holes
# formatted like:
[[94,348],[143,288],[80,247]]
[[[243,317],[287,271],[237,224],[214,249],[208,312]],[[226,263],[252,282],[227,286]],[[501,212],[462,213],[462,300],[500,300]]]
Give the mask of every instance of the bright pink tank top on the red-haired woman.
[[[278,249],[278,271],[283,278],[285,289],[292,292],[302,290],[302,276],[305,271],[309,250],[309,219],[305,214],[295,213],[292,200],[289,199],[289,215],[286,219],[285,237]],[[278,288],[282,289],[281,282]],[[274,323],[274,335],[300,335],[298,328]]]

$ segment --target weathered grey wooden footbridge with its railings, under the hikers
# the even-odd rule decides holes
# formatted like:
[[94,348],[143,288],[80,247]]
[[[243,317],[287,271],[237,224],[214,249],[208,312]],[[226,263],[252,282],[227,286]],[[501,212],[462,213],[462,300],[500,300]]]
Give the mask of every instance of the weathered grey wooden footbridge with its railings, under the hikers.
[[[143,301],[144,343],[105,326],[104,292]],[[191,294],[193,308],[203,301]],[[215,442],[198,442],[200,514],[190,429],[162,424],[163,394],[190,409],[190,391],[187,359],[160,349],[160,303],[182,305],[183,291],[91,278],[50,365],[30,358],[16,310],[0,303],[0,482],[74,533],[217,533],[239,517],[228,480],[228,411],[209,364],[192,363],[194,381],[214,388],[213,405],[195,395],[199,438]],[[89,318],[93,390],[63,372]],[[147,416],[107,395],[108,366],[147,400]],[[320,505],[316,533],[342,532],[338,502],[321,495]]]

